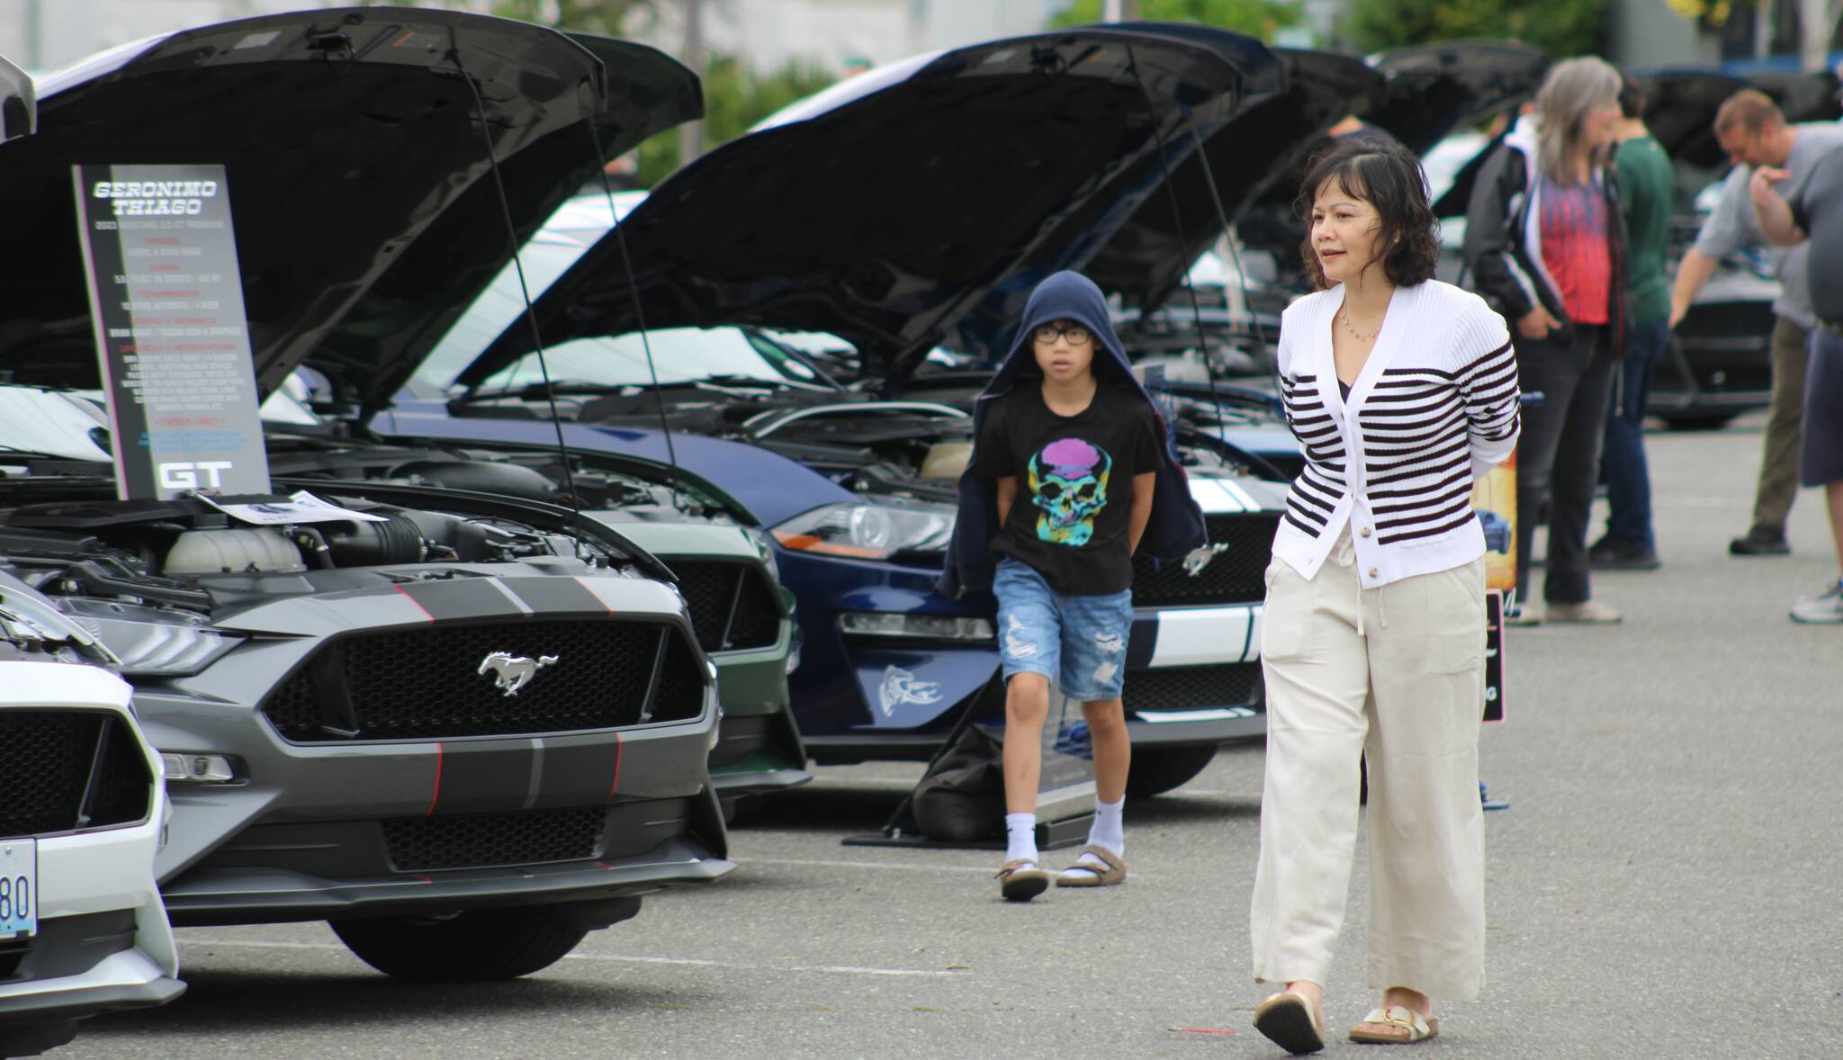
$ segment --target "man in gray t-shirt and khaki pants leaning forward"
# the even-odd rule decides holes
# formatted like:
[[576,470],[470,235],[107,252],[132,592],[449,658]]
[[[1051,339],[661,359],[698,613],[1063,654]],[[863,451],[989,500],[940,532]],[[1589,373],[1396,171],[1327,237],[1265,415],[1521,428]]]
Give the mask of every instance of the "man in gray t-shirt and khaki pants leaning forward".
[[[1696,247],[1677,265],[1677,284],[1670,295],[1670,326],[1690,312],[1716,265],[1731,251],[1760,243],[1760,227],[1747,199],[1747,179],[1762,166],[1786,173],[1786,194],[1810,177],[1812,166],[1843,146],[1843,124],[1806,122],[1788,125],[1786,116],[1766,94],[1743,88],[1716,111],[1716,140],[1734,160],[1734,171],[1721,186],[1721,199],[1703,221]],[[1753,525],[1729,542],[1732,555],[1784,555],[1786,516],[1799,492],[1799,418],[1804,406],[1804,347],[1810,337],[1812,288],[1806,284],[1806,247],[1791,247],[1778,256],[1780,295],[1773,300],[1773,406],[1766,418],[1760,453],[1760,485],[1753,501]]]

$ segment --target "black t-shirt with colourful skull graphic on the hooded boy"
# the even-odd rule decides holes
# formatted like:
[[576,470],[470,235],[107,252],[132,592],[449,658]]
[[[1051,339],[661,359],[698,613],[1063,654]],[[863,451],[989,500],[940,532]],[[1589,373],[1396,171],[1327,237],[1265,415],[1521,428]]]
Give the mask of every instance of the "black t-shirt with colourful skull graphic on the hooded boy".
[[992,551],[1023,562],[1063,595],[1132,588],[1133,476],[1165,466],[1152,406],[1102,382],[1078,415],[1058,417],[1038,380],[986,409],[971,474],[1017,476],[1017,500]]

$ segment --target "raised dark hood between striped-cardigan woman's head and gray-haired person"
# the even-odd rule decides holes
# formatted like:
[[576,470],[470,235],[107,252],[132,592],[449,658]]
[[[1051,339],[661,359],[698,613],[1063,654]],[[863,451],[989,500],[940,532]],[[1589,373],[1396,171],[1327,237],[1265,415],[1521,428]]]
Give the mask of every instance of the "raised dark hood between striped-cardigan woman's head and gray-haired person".
[[1388,98],[1369,124],[1425,155],[1456,129],[1533,98],[1548,55],[1504,41],[1456,41],[1384,52],[1371,66],[1388,79]]

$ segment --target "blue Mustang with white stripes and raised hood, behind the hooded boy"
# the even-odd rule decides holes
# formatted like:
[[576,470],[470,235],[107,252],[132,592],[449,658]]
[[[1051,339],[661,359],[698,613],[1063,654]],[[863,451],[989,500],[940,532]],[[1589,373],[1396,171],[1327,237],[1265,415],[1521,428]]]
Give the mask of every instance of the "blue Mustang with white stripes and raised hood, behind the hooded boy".
[[[953,601],[933,584],[969,420],[938,402],[881,402],[870,383],[840,385],[770,328],[837,336],[896,387],[892,376],[925,361],[966,308],[1015,313],[1032,277],[1080,254],[1098,218],[1117,216],[1109,203],[1146,194],[1133,173],[1156,166],[1161,138],[1181,142],[1189,124],[1213,129],[1237,98],[1281,85],[1259,42],[1194,28],[1185,37],[1084,29],[1003,41],[899,63],[796,105],[671,177],[623,223],[645,334],[634,330],[619,243],[601,240],[536,297],[553,385],[540,383],[527,334],[501,319],[503,334],[475,347],[472,363],[431,358],[420,404],[398,400],[380,430],[538,444],[533,418],[555,396],[571,446],[669,459],[663,420],[676,465],[774,533],[800,599],[792,695],[809,754],[927,758],[997,667],[990,601]],[[1159,81],[1146,111],[1128,44],[1139,70],[1170,70],[1192,105],[1178,107]],[[1063,70],[1058,57],[1076,50],[1089,59]],[[968,111],[975,90],[984,103]],[[1060,129],[1054,138],[1049,127]],[[957,149],[944,153],[944,142]],[[1045,162],[1032,162],[1039,155]],[[1095,171],[1122,177],[1097,183]],[[923,173],[925,194],[892,212],[892,195]],[[818,223],[826,240],[805,230]],[[1196,489],[1211,511],[1277,518],[1277,496],[1205,459],[1215,455],[1198,457]],[[1259,592],[1246,583],[1259,584],[1270,538],[1272,525],[1224,535],[1233,555],[1200,557],[1194,577],[1159,573],[1185,581],[1180,597],[1141,612],[1130,645],[1135,793],[1174,787],[1224,739],[1261,732],[1257,610],[1246,603]],[[1216,608],[1233,614],[1203,614],[1194,605],[1224,603],[1209,595],[1218,583],[1253,597]],[[1205,636],[1215,619],[1238,621],[1248,636],[1233,645]]]

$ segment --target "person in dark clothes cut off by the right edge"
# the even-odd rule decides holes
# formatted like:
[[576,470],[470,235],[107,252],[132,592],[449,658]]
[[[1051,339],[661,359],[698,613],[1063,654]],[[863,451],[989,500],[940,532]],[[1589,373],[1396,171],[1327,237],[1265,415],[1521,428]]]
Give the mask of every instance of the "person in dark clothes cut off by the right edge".
[[1819,159],[1790,201],[1780,194],[1788,175],[1760,166],[1747,181],[1747,194],[1769,241],[1810,245],[1806,265],[1817,324],[1804,376],[1799,479],[1825,487],[1839,570],[1828,590],[1791,608],[1791,621],[1843,623],[1843,147]]

